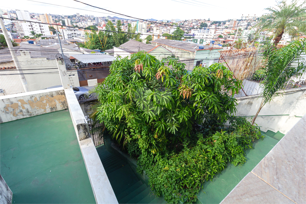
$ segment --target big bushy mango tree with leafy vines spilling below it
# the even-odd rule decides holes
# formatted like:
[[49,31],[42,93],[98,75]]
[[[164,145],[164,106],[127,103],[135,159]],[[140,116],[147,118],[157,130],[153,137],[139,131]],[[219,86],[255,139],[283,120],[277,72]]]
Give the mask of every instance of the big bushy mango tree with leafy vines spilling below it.
[[168,203],[193,202],[200,184],[227,162],[245,162],[244,149],[260,133],[231,117],[241,81],[224,65],[187,72],[172,58],[169,66],[144,52],[118,58],[94,90],[99,103],[91,117],[137,159],[156,195]]

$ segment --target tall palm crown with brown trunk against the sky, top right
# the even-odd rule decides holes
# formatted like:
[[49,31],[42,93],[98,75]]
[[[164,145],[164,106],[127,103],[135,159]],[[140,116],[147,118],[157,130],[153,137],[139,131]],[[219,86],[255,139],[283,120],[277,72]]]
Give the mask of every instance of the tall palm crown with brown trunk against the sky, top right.
[[[256,25],[257,32],[268,31],[273,32],[271,36],[274,38],[274,46],[276,47],[282,39],[284,33],[295,37],[299,31],[306,30],[306,2],[298,4],[298,0],[293,0],[287,4],[286,0],[278,2],[276,7],[266,8],[270,13],[264,14]],[[297,30],[297,29],[298,30]]]

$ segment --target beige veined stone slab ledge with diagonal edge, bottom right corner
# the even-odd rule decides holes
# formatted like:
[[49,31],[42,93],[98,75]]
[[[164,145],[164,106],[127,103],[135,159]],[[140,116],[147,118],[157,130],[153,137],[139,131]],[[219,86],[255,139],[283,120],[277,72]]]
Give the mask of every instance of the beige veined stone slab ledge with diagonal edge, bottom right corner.
[[305,203],[305,132],[306,114],[221,203]]

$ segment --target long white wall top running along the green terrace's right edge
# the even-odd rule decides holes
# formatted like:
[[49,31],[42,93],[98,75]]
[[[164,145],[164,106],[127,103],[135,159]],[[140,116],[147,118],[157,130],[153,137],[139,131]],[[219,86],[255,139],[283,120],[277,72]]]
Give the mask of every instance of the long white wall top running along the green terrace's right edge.
[[88,123],[80,104],[71,88],[65,89],[65,94],[96,203],[117,204],[117,198],[90,137]]

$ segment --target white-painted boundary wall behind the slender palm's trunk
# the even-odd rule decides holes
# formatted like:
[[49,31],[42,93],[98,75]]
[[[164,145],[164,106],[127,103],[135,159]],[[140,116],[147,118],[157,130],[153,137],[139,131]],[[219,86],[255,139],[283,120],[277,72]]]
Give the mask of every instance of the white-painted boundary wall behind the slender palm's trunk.
[[[297,123],[301,116],[306,114],[306,88],[295,88],[283,93],[266,104],[259,112],[255,123],[261,126],[264,132],[271,130],[286,134]],[[259,95],[237,98],[237,116],[254,116],[261,103]],[[285,116],[262,116],[262,115],[285,115]],[[299,116],[299,117],[296,117]],[[247,117],[251,121],[252,117]],[[305,133],[304,133],[305,134]]]

